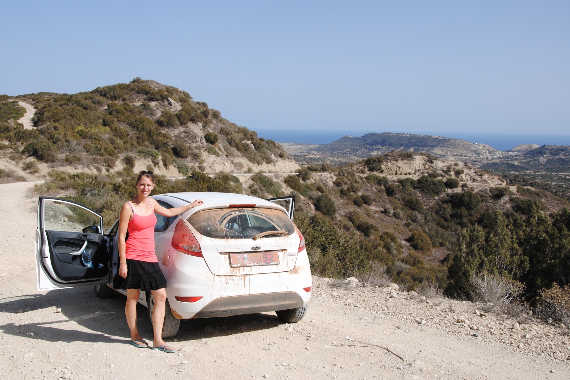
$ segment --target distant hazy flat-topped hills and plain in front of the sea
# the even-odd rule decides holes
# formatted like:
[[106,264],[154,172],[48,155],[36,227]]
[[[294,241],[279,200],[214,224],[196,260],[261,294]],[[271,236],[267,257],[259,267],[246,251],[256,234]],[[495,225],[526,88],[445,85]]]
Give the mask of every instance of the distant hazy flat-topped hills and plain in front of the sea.
[[570,146],[526,144],[501,152],[455,138],[405,133],[367,133],[361,137],[345,136],[331,144],[283,143],[282,146],[302,165],[322,162],[343,165],[394,151],[424,152],[494,171],[507,177],[512,185],[528,186],[529,180],[534,180],[532,186],[570,199]]

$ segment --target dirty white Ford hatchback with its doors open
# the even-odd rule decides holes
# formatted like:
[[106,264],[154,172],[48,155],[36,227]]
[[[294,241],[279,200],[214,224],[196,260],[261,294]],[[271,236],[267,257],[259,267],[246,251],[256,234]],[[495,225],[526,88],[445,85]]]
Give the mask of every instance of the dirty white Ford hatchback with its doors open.
[[[164,337],[178,332],[181,319],[271,311],[286,322],[304,317],[312,279],[303,235],[292,222],[293,197],[174,193],[153,198],[166,208],[204,201],[178,216],[156,215],[156,255],[168,281]],[[38,289],[95,285],[98,297],[114,295],[118,227],[117,220],[103,234],[103,216],[95,211],[40,197]],[[83,263],[83,251],[92,267]],[[139,303],[152,315],[150,292],[140,292]]]

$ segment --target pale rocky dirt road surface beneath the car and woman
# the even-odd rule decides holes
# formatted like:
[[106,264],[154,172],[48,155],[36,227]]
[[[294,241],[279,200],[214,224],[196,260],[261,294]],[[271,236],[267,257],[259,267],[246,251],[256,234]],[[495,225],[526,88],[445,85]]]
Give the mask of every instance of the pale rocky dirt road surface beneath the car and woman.
[[[97,299],[92,287],[36,290],[31,189],[33,182],[0,185],[3,378],[570,378],[567,329],[538,320],[517,329],[513,320],[474,314],[483,305],[319,278],[296,324],[274,313],[183,321],[175,354],[135,348],[127,344],[123,296]],[[150,340],[142,307],[139,326]]]

